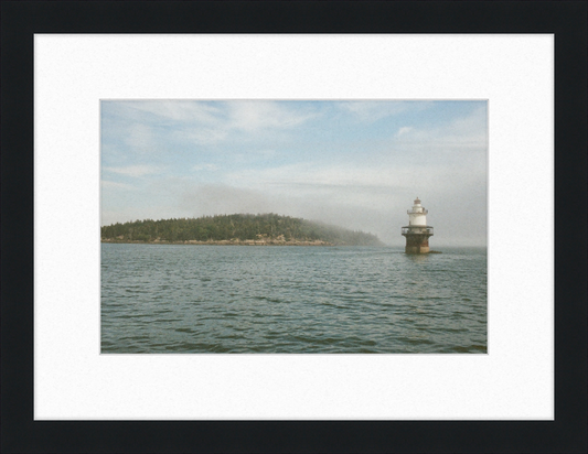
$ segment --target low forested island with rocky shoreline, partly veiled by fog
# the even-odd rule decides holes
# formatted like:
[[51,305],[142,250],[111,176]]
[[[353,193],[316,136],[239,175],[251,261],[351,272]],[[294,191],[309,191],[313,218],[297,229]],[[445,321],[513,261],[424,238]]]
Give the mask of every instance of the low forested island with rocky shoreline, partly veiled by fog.
[[377,236],[277,214],[135,220],[100,228],[103,242],[383,246]]

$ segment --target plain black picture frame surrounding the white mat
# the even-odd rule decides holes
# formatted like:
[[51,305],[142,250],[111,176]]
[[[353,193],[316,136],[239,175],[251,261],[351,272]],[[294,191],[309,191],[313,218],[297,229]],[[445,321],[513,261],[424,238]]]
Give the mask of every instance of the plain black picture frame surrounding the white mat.
[[[587,12],[585,1],[2,2],[1,451],[586,452]],[[35,33],[555,34],[555,421],[34,421]]]

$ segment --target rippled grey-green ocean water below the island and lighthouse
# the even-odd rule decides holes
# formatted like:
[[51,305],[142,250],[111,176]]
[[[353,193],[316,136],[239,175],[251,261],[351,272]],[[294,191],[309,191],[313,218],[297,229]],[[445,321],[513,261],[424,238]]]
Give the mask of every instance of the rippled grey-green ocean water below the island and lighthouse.
[[101,353],[487,353],[487,250],[101,245]]

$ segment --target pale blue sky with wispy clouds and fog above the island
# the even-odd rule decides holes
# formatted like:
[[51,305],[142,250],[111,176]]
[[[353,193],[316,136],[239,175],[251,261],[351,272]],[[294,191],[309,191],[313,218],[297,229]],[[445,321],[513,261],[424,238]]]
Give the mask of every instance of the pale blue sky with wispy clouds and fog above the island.
[[101,225],[277,213],[485,246],[485,100],[103,100]]

